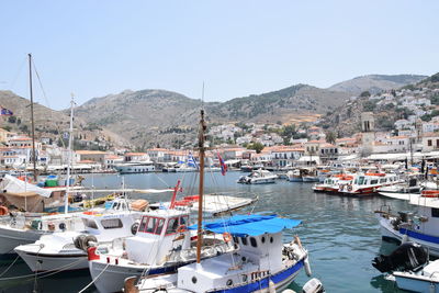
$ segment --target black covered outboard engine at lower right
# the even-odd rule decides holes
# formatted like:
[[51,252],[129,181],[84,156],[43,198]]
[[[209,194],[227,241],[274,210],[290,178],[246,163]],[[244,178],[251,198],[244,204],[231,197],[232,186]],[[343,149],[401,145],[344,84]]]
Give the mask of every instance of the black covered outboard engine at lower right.
[[427,249],[423,246],[408,241],[397,247],[391,255],[372,260],[372,266],[380,272],[412,271],[420,268],[428,261]]

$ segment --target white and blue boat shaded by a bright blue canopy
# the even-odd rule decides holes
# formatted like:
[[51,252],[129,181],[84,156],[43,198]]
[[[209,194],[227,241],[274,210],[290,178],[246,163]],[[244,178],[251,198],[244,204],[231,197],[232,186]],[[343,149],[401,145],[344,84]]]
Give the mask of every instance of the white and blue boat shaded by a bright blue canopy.
[[301,269],[311,274],[308,255],[299,237],[282,244],[282,230],[300,223],[255,214],[206,223],[204,228],[210,232],[229,233],[239,249],[180,267],[173,274],[143,278],[134,292],[280,292]]

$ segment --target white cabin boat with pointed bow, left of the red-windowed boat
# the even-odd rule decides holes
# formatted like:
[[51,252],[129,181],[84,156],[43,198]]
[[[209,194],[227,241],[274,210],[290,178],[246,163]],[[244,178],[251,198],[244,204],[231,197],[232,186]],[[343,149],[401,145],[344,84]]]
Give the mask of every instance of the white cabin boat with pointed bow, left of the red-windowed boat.
[[[123,201],[123,199],[120,199]],[[88,269],[87,249],[92,245],[110,245],[115,238],[136,234],[140,213],[134,211],[83,212],[78,215],[83,230],[66,230],[43,235],[33,244],[15,247],[15,252],[32,271]]]

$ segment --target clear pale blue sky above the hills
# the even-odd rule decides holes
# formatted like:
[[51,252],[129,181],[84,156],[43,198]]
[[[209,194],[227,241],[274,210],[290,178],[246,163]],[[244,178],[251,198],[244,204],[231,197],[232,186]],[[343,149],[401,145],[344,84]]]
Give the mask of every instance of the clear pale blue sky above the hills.
[[295,83],[439,71],[439,1],[3,0],[0,89],[54,109],[125,89],[225,101]]

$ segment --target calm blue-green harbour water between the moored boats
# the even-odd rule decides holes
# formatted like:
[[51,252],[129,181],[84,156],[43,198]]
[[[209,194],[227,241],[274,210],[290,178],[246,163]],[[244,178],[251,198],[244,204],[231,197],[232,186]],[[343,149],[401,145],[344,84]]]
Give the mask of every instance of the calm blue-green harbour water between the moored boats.
[[[393,211],[407,211],[410,206],[398,200],[369,196],[363,199],[345,198],[325,193],[314,193],[311,183],[278,180],[274,184],[238,184],[241,172],[206,173],[206,193],[226,193],[227,195],[259,195],[255,206],[243,211],[254,213],[275,213],[285,217],[302,219],[303,224],[294,230],[285,230],[284,240],[290,241],[299,235],[309,251],[313,277],[319,279],[326,292],[403,292],[393,282],[371,266],[378,253],[389,253],[395,244],[381,240],[378,219],[373,211],[382,205]],[[195,173],[143,173],[130,176],[89,174],[83,184],[87,187],[136,189],[164,189],[173,187],[182,179],[183,193],[196,194]],[[170,193],[133,194],[149,202],[169,201]],[[239,213],[239,212],[237,212]],[[78,292],[91,282],[88,271],[60,272],[45,278],[32,274],[26,264],[16,261],[11,269],[3,271],[14,261],[3,259],[0,263],[0,292]],[[24,275],[23,278],[15,278]],[[7,279],[10,278],[10,279]],[[301,292],[309,280],[301,272],[290,288]],[[85,292],[97,292],[91,285]]]

